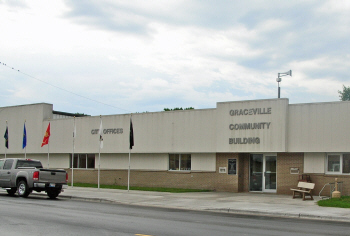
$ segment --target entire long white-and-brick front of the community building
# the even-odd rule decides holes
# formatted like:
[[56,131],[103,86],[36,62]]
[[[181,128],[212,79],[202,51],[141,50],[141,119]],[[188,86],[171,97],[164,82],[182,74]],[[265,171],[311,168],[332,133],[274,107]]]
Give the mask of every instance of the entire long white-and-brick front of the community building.
[[[349,115],[350,102],[289,104],[288,99],[102,117],[73,117],[46,103],[2,107],[0,130],[7,125],[9,148],[1,145],[0,156],[39,159],[66,169],[70,178],[73,173],[74,182],[97,183],[100,169],[101,184],[127,185],[132,118],[131,186],[291,194],[290,188],[307,178],[318,194],[338,178],[343,195],[349,195]],[[49,123],[50,142],[41,147]]]

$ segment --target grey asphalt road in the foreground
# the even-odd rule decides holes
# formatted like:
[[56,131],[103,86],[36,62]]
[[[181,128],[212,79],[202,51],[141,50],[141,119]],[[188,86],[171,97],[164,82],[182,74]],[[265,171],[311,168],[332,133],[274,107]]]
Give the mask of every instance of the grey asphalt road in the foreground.
[[350,224],[0,194],[0,235],[349,235]]

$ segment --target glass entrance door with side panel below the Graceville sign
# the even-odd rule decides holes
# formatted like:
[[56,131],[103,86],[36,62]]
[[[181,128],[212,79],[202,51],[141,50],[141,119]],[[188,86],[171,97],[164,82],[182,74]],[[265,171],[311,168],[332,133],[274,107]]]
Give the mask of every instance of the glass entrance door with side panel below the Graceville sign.
[[251,154],[249,191],[276,192],[276,156]]

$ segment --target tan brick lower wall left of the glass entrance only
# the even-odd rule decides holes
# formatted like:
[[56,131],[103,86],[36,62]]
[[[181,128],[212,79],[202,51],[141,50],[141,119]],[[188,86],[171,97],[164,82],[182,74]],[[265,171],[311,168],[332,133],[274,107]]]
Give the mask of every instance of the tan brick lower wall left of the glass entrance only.
[[[219,167],[228,169],[228,159],[237,159],[237,175],[220,174]],[[249,158],[249,155],[248,155]],[[247,163],[242,154],[220,153],[216,155],[215,172],[176,172],[176,171],[141,171],[131,170],[130,186],[140,187],[171,187],[189,189],[209,189],[214,191],[238,192],[247,191],[248,171]],[[67,170],[69,182],[71,170]],[[97,184],[97,170],[74,170],[75,183]],[[100,184],[126,186],[128,181],[127,170],[100,170]],[[241,183],[243,181],[243,183]]]

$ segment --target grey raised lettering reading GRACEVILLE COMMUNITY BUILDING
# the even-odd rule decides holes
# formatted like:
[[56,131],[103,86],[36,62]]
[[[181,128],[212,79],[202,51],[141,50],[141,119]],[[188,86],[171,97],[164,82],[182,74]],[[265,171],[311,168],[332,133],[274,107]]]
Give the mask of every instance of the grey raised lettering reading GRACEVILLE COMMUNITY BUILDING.
[[[230,116],[251,116],[271,114],[271,107],[268,108],[251,108],[251,109],[232,109]],[[230,130],[255,130],[255,129],[270,129],[271,122],[250,122],[230,124]],[[229,144],[260,144],[259,137],[240,137],[229,138]]]

